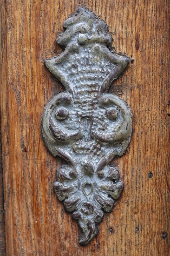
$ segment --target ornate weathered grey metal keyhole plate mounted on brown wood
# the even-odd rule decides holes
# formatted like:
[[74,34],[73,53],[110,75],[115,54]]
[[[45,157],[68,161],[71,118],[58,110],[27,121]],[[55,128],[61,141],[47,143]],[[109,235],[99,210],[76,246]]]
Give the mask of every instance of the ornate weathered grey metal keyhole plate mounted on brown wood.
[[51,154],[67,163],[56,172],[54,189],[80,227],[79,243],[98,233],[104,212],[115,206],[124,183],[111,165],[131,140],[131,110],[108,93],[130,59],[111,48],[104,20],[84,8],[65,20],[57,43],[62,54],[46,61],[49,71],[64,85],[42,117],[41,134]]

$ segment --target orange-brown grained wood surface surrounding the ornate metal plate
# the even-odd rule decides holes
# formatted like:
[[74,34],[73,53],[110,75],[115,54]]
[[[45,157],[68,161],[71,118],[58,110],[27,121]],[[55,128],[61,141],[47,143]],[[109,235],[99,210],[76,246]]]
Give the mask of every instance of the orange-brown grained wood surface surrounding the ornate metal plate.
[[[63,90],[44,60],[62,51],[57,33],[79,6],[101,15],[113,46],[134,59],[111,87],[133,113],[130,147],[115,160],[124,192],[86,247],[52,191],[62,160],[49,154],[40,136],[44,106]],[[170,255],[170,1],[1,0],[1,10],[0,231],[7,256]]]

